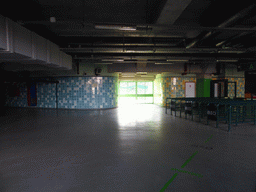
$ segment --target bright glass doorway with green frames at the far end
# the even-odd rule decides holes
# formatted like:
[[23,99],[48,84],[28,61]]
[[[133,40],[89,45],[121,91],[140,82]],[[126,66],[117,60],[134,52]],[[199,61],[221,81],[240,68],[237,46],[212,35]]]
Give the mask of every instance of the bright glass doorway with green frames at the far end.
[[118,105],[154,103],[152,81],[120,81]]

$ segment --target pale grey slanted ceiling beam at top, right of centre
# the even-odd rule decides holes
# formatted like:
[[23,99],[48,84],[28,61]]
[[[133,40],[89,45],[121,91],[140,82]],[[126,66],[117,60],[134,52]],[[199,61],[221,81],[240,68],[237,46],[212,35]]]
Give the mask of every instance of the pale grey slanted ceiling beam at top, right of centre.
[[157,24],[172,25],[192,0],[167,0],[157,19]]

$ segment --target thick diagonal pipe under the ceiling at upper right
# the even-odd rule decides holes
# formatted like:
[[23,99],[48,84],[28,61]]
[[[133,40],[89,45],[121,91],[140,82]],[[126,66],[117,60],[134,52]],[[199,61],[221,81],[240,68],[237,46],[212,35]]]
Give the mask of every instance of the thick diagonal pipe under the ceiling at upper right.
[[[256,4],[252,4],[249,7],[243,9],[242,11],[238,12],[237,14],[235,14],[233,17],[229,18],[228,20],[226,20],[225,22],[223,22],[222,24],[220,24],[218,26],[218,28],[225,28],[228,25],[233,24],[234,22],[236,22],[238,19],[241,19],[243,17],[245,17],[254,7]],[[211,36],[212,34],[214,34],[215,32],[210,31],[208,32],[203,38],[201,39],[196,39],[193,42],[191,42],[189,45],[186,46],[187,49],[194,47],[199,41],[202,41],[203,39],[208,38],[209,36]]]

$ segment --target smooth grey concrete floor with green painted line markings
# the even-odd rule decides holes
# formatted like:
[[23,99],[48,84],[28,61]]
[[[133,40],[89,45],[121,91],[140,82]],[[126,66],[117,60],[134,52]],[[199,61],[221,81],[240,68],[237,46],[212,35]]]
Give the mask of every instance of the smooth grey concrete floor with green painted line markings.
[[12,108],[0,122],[1,192],[255,191],[250,124],[228,133],[150,104]]

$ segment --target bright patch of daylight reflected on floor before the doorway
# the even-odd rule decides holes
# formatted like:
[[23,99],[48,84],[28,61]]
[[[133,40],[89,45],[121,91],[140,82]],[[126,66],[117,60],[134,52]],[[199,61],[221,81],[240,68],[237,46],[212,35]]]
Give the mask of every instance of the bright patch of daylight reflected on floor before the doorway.
[[[159,113],[156,111],[159,110]],[[154,104],[132,104],[118,108],[118,141],[122,157],[157,150],[161,133],[161,108]],[[145,146],[146,145],[146,146]]]

